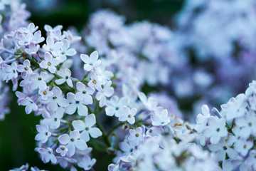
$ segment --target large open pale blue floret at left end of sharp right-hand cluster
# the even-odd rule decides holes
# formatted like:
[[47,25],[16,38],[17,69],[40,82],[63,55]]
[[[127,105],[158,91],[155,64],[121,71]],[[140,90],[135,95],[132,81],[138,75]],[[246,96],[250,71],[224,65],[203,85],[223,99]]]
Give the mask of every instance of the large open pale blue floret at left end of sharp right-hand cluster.
[[210,142],[215,145],[220,141],[220,138],[228,135],[228,130],[225,128],[225,119],[210,116],[208,120],[208,126],[203,134],[210,138]]

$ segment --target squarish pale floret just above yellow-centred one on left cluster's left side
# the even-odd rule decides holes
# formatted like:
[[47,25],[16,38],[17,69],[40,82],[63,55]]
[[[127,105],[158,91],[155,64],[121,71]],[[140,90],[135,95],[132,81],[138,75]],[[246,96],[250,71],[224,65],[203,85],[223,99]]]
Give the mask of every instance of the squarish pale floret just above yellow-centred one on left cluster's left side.
[[46,81],[48,80],[48,73],[33,73],[30,76],[29,88],[31,90],[36,90],[39,88],[40,90],[46,90]]

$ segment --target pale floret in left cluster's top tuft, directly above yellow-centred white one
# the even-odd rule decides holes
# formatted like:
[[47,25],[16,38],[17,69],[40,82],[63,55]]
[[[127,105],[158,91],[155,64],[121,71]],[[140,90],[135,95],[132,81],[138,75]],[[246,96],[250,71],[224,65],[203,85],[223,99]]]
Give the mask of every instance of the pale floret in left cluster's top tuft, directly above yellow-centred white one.
[[48,36],[46,38],[46,44],[43,45],[43,50],[53,54],[53,56],[60,55],[60,48],[63,46],[63,42],[54,42],[53,38]]

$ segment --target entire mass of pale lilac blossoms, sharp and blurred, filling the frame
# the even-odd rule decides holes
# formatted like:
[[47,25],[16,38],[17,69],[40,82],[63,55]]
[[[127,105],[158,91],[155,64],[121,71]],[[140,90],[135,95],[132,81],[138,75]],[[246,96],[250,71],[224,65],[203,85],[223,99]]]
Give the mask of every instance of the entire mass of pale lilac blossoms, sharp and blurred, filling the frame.
[[[102,159],[92,150],[100,145],[114,155],[110,171],[256,170],[256,81],[225,101],[255,76],[247,74],[254,64],[253,33],[244,33],[254,28],[250,19],[255,3],[239,7],[241,3],[187,1],[175,31],[149,21],[127,25],[123,16],[102,10],[92,14],[82,36],[60,25],[45,25],[44,37],[42,28],[27,21],[24,4],[1,1],[1,11],[9,15],[0,15],[0,119],[10,111],[6,83],[11,82],[18,105],[41,118],[34,139],[43,163],[93,170]],[[238,15],[238,21],[225,24],[228,34],[218,38],[208,31],[228,22],[212,20],[220,11],[227,19]],[[250,25],[230,33],[239,21]],[[210,24],[202,28],[202,22]],[[191,38],[184,43],[186,36]],[[240,51],[233,53],[233,43]],[[198,53],[194,63],[188,51]],[[233,75],[233,64],[244,58],[251,63],[244,61],[239,76]],[[223,72],[228,67],[232,71]],[[226,78],[236,77],[244,79],[228,85]],[[142,92],[147,86],[156,91]],[[227,86],[233,87],[223,94]],[[181,100],[201,108],[191,123],[178,109]],[[218,103],[224,103],[220,111],[210,110]],[[105,118],[112,125],[103,125]]]

